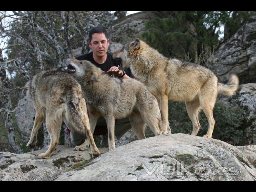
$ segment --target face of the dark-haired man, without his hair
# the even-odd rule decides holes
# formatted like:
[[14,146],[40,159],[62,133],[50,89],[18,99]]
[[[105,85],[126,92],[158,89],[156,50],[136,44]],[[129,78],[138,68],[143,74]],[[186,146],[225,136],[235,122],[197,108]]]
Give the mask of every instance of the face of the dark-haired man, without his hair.
[[92,34],[92,41],[89,41],[89,46],[97,57],[103,57],[107,53],[109,39],[104,33],[94,33]]

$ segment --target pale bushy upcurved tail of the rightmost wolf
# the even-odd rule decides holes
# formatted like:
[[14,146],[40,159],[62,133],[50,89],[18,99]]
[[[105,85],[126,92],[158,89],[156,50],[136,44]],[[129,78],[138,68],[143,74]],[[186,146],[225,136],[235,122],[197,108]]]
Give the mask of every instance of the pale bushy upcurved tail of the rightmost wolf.
[[218,83],[218,93],[231,96],[237,90],[238,85],[238,76],[236,76],[236,74],[232,74],[227,84]]

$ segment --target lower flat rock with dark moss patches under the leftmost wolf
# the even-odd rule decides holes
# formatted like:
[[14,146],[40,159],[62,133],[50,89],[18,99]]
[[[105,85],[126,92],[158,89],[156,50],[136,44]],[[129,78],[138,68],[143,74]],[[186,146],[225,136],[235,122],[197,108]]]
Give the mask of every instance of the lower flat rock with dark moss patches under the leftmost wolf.
[[[26,154],[0,152],[0,181],[50,181],[61,173],[88,163],[90,148],[74,151],[67,146],[58,146],[48,159],[38,158],[47,148]],[[107,148],[99,148],[101,154]]]

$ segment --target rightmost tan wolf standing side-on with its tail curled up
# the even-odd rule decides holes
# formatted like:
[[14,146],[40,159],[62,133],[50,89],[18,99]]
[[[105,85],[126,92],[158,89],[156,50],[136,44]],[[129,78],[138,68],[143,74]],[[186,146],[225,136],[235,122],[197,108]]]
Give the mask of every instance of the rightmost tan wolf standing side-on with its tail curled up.
[[113,54],[122,59],[122,69],[130,67],[135,78],[144,83],[158,100],[162,114],[163,134],[168,133],[168,100],[184,101],[193,124],[192,135],[200,129],[198,112],[204,111],[208,119],[208,131],[204,135],[212,138],[215,120],[213,108],[218,93],[231,96],[237,90],[239,79],[230,75],[227,84],[218,82],[209,69],[177,59],[166,58],[140,39],[125,44]]

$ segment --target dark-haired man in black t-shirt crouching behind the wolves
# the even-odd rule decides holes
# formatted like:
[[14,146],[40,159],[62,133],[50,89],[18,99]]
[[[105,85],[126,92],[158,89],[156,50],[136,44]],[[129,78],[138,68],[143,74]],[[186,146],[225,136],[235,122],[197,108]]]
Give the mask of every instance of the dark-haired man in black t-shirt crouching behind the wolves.
[[[122,60],[114,59],[112,55],[107,52],[110,41],[108,39],[108,33],[104,27],[95,27],[90,30],[88,44],[92,49],[92,52],[76,57],[77,60],[88,60],[95,66],[99,67],[101,70],[109,73],[111,76],[124,79],[134,78],[130,68],[127,68],[126,70],[119,70],[118,66],[121,65]],[[115,135],[118,139],[120,139],[123,134],[130,129],[131,125],[128,118],[116,120]],[[68,130],[68,132],[70,131]],[[103,138],[106,139],[108,138],[107,133],[108,129],[106,126],[106,121],[103,117],[100,117],[96,124],[94,135],[103,135]],[[84,138],[82,138],[82,136],[72,132],[70,132],[70,138],[71,142],[76,145],[84,142]],[[102,140],[101,143],[107,147],[107,139],[105,141]]]

